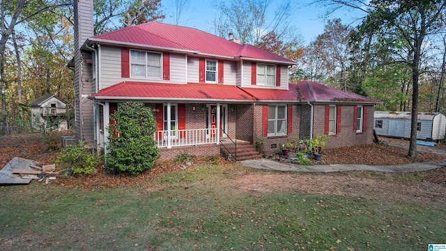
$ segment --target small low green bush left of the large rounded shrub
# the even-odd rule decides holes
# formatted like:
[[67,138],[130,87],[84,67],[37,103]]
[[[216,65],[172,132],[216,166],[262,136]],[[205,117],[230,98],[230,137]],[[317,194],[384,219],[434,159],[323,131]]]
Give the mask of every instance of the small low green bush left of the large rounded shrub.
[[78,145],[68,145],[59,153],[56,164],[65,171],[66,176],[85,175],[96,171],[101,159],[95,155],[94,149],[85,146],[83,141]]

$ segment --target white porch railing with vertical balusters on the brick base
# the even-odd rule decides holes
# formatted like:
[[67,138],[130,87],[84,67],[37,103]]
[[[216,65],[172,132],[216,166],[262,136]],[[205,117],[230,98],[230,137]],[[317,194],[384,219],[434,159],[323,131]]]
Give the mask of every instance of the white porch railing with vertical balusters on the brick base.
[[[170,135],[170,137],[168,137]],[[212,136],[212,137],[210,137]],[[217,144],[217,128],[159,130],[153,135],[158,148]],[[169,144],[170,143],[170,144]]]

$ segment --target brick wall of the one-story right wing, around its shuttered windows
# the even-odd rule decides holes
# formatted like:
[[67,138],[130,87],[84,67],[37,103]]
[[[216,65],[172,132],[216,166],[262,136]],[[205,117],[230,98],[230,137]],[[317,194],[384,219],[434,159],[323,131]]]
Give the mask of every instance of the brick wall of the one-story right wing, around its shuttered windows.
[[[341,132],[337,135],[331,135],[330,139],[327,139],[326,149],[373,143],[374,107],[367,106],[367,130],[365,132],[355,132],[353,130],[355,122],[353,121],[353,110],[355,107],[355,105],[341,106]],[[325,105],[315,105],[313,136],[321,135],[324,131]]]

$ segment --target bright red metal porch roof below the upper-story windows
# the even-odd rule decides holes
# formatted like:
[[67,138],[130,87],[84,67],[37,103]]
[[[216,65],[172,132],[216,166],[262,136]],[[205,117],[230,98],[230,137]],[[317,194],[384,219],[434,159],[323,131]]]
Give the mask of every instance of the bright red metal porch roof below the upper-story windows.
[[101,100],[254,101],[252,96],[233,85],[130,81],[114,84],[89,97]]

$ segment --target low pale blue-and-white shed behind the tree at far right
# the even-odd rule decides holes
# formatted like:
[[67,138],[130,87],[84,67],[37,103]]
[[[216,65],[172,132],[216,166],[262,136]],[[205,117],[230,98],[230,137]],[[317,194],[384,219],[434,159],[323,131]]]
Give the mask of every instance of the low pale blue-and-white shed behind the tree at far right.
[[[410,138],[410,112],[374,113],[376,135]],[[438,140],[445,137],[446,116],[440,112],[419,112],[417,139]]]

